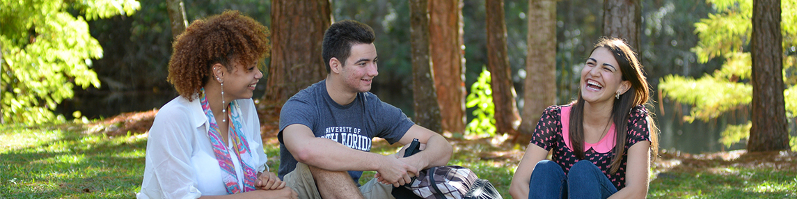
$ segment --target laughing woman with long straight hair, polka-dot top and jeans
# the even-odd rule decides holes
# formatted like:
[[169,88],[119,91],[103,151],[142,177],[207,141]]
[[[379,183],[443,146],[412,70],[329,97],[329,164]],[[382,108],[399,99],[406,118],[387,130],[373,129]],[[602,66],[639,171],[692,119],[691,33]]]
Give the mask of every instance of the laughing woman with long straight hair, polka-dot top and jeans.
[[601,38],[579,88],[575,102],[543,112],[512,177],[512,197],[646,197],[657,129],[634,51],[618,38]]

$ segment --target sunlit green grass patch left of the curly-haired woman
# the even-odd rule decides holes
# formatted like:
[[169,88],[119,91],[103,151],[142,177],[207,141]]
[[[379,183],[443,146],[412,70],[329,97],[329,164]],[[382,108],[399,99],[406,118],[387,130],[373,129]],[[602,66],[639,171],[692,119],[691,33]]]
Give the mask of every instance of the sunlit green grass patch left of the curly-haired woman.
[[135,136],[61,131],[51,142],[2,152],[0,195],[131,198],[141,183],[146,145]]

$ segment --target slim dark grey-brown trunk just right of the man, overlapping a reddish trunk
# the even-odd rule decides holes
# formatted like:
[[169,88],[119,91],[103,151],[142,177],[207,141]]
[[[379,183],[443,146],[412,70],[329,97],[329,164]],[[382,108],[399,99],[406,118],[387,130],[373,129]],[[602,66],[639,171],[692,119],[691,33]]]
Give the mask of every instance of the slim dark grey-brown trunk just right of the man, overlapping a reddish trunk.
[[410,45],[412,49],[412,94],[415,123],[434,132],[441,132],[440,105],[434,91],[434,71],[429,49],[429,2],[410,0]]

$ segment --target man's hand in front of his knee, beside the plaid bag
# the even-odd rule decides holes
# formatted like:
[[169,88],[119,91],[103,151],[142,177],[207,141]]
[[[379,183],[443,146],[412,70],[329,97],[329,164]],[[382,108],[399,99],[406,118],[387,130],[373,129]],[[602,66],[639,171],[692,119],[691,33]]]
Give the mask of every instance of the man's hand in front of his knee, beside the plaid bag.
[[382,158],[376,178],[383,184],[392,184],[394,187],[410,183],[410,174],[418,174],[418,169],[406,162],[402,162],[395,155],[385,155]]

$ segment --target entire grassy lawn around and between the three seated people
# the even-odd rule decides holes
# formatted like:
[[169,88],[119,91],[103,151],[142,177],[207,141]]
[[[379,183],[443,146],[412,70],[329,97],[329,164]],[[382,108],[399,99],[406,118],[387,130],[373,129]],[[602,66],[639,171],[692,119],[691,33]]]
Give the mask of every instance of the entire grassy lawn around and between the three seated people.
[[[117,125],[118,126],[118,125]],[[0,127],[0,198],[132,198],[144,169],[146,134],[103,133],[108,124]],[[474,170],[505,198],[524,146],[497,139],[450,139],[451,165]],[[264,139],[269,166],[277,168],[277,140]],[[397,145],[374,142],[391,154]],[[662,154],[654,163],[652,198],[795,198],[797,153]],[[367,181],[373,172],[363,174]]]

